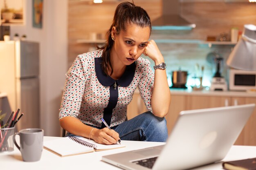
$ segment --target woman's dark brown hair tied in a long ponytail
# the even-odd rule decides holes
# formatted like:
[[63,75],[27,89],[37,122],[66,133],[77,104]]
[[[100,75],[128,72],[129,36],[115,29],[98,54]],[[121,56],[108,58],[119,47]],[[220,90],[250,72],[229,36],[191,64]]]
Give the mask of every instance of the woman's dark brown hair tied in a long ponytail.
[[150,27],[150,33],[151,33],[151,22],[150,18],[148,16],[148,13],[141,7],[135,6],[134,3],[131,2],[122,2],[120,3],[116,10],[115,15],[112,21],[112,24],[110,26],[110,29],[108,30],[106,37],[106,45],[99,49],[103,49],[102,53],[102,70],[103,72],[108,75],[108,66],[111,69],[110,75],[113,73],[113,67],[110,62],[110,53],[112,46],[114,44],[114,41],[111,38],[111,31],[112,27],[115,26],[116,28],[116,34],[119,34],[120,31],[126,31],[126,27],[128,24],[136,24],[138,26],[141,26],[142,28],[149,26]]

